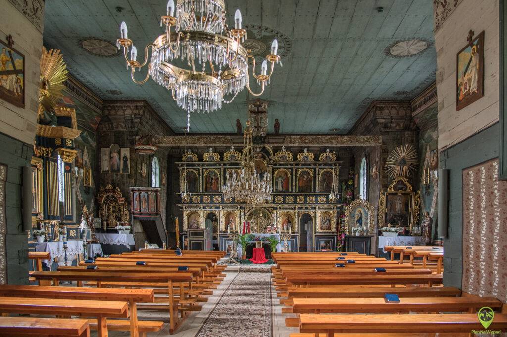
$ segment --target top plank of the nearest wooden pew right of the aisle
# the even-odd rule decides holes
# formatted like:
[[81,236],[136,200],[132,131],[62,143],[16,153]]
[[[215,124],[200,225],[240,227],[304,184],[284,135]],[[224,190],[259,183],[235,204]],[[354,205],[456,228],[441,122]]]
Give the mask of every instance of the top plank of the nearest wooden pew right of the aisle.
[[[325,332],[334,337],[336,332],[345,333],[435,333],[435,332],[470,332],[484,330],[477,319],[477,314],[373,314],[373,315],[315,315],[302,314],[301,332]],[[507,329],[507,315],[496,314],[489,330]]]

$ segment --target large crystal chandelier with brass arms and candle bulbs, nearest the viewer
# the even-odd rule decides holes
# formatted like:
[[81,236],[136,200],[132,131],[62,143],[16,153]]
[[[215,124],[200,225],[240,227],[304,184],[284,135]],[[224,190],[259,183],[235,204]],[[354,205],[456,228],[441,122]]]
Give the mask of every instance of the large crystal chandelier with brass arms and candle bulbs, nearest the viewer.
[[[151,77],[170,90],[176,104],[187,111],[187,131],[190,113],[194,111],[209,113],[221,109],[222,102],[232,102],[245,87],[252,95],[260,96],[269,83],[275,62],[280,61],[275,39],[271,54],[261,65],[261,73],[256,74],[255,57],[242,45],[246,30],[241,28],[240,11],[236,10],[234,29],[228,29],[226,16],[224,0],[177,0],[176,6],[169,0],[167,15],[160,21],[161,26],[165,25],[165,33],[144,48],[142,63],[137,61],[137,49],[128,38],[126,23],[121,23],[117,46],[118,49],[123,46],[132,81],[143,84]],[[151,56],[148,54],[150,48]],[[252,92],[249,87],[248,59],[251,60],[251,74],[261,86],[259,93]],[[188,69],[175,66],[175,60],[186,64]],[[269,74],[268,62],[271,63]],[[136,68],[139,70],[147,64],[146,77],[136,80]],[[229,95],[230,100],[226,100],[225,95]]]

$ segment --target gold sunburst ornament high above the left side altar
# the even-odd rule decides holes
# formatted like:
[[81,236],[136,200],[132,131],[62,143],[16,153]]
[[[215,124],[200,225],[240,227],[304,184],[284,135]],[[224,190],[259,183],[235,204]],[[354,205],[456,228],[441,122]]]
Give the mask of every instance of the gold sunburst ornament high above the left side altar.
[[42,48],[41,89],[39,90],[39,118],[50,111],[63,98],[63,81],[68,77],[67,65],[58,49]]

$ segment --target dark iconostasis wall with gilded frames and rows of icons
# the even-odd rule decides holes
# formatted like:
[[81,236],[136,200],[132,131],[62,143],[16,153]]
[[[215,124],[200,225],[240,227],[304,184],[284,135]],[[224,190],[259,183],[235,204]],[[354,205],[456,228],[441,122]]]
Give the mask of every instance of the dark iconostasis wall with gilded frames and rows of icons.
[[[305,251],[336,248],[339,201],[330,202],[333,183],[338,184],[340,161],[331,151],[316,154],[306,149],[293,154],[286,147],[274,152],[269,146],[257,148],[257,172],[269,172],[273,193],[270,203],[249,207],[224,200],[222,186],[227,175],[241,169],[241,153],[231,147],[219,154],[212,148],[203,156],[188,150],[177,162],[180,203],[183,211],[181,240],[188,249],[231,246],[228,231],[249,224],[251,233],[273,233],[289,226],[289,249]],[[340,198],[338,198],[340,199]]]

